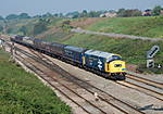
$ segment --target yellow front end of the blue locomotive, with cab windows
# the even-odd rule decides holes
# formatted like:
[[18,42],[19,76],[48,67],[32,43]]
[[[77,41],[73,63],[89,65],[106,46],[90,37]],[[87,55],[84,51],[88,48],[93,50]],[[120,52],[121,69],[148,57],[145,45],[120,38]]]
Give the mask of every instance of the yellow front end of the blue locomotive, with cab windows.
[[112,78],[125,79],[126,65],[122,61],[122,58],[117,54],[108,58],[105,63],[105,72],[110,74]]

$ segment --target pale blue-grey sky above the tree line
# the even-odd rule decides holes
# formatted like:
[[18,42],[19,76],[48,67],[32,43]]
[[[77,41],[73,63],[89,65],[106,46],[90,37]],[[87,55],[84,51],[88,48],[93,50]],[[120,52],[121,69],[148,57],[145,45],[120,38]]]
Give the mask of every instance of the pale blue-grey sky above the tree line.
[[163,0],[0,0],[0,15],[22,12],[30,15],[67,13],[83,10],[152,9],[163,7]]

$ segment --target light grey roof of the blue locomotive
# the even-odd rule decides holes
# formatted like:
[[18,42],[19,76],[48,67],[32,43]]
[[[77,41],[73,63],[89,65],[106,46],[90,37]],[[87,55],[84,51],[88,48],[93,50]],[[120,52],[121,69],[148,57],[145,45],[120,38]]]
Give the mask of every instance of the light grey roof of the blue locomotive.
[[85,53],[89,55],[105,58],[105,59],[109,56],[115,55],[114,53],[108,53],[108,52],[102,52],[102,51],[97,51],[97,50],[87,50]]

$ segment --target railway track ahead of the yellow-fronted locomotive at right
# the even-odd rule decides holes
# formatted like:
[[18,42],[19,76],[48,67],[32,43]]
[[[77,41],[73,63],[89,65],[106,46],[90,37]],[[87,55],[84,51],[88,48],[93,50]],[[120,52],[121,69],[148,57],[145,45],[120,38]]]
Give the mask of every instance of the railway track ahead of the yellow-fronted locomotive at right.
[[163,85],[160,83],[129,75],[125,81],[117,81],[117,84],[145,92],[163,101]]

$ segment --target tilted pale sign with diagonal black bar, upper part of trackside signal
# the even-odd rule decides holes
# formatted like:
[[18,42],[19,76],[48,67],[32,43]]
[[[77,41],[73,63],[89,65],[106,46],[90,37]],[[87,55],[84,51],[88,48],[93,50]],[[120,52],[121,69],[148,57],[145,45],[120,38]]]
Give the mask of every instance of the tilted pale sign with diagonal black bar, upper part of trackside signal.
[[160,47],[159,46],[153,46],[151,48],[151,50],[147,52],[147,58],[148,59],[153,58],[158,53],[158,51],[160,51]]

